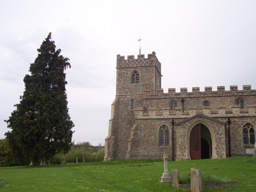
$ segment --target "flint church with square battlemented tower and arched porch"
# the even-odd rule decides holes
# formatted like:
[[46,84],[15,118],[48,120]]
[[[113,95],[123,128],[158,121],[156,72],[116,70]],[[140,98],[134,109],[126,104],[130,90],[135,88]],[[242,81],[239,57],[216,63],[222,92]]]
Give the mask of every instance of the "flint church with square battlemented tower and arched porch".
[[161,88],[156,53],[117,55],[104,160],[217,159],[254,153],[256,90],[250,85]]

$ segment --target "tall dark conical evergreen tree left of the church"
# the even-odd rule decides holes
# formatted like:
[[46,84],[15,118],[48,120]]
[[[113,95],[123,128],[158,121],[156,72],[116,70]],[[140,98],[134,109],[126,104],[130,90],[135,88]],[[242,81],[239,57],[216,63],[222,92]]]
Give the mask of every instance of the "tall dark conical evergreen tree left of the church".
[[74,127],[68,114],[66,74],[68,58],[56,50],[51,33],[37,50],[30,64],[31,75],[24,77],[25,91],[9,117],[5,133],[16,159],[38,164],[56,153],[67,153],[72,145]]

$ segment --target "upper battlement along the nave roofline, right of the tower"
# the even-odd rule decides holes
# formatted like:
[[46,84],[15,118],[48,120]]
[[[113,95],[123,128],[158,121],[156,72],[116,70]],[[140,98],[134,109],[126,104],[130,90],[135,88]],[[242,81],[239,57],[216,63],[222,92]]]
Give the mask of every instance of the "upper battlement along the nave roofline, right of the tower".
[[200,91],[199,87],[193,87],[192,92],[188,92],[188,88],[180,88],[180,92],[176,92],[175,88],[169,88],[168,93],[164,93],[163,89],[156,90],[156,94],[152,93],[151,90],[144,90],[144,94],[146,96],[167,96],[167,95],[173,95],[173,96],[218,96],[218,95],[230,95],[232,93],[236,94],[256,94],[256,90],[252,90],[250,85],[243,85],[243,90],[238,90],[238,86],[230,86],[230,90],[225,90],[225,86],[218,86],[217,91],[212,91],[212,87],[205,87],[204,91]]

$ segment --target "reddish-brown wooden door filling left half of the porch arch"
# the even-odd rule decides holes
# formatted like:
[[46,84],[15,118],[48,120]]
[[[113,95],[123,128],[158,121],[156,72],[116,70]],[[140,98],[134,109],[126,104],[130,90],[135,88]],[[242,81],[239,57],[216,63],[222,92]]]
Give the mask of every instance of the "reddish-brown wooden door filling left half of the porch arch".
[[201,126],[197,124],[190,132],[190,158],[201,159]]

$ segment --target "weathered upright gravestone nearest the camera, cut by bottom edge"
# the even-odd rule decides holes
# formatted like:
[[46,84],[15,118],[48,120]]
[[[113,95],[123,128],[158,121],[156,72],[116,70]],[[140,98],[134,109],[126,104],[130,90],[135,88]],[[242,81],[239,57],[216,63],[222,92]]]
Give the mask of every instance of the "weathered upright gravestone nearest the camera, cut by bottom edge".
[[190,169],[191,192],[202,192],[202,170]]

